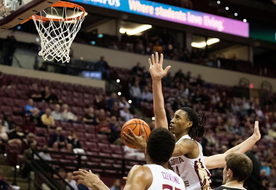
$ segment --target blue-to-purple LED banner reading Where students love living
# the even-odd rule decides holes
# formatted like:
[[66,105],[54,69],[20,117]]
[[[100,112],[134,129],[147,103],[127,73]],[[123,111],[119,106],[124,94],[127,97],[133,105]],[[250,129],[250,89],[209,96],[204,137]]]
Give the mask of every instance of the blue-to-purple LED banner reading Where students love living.
[[146,0],[70,0],[87,5],[181,23],[227,34],[249,37],[243,21]]

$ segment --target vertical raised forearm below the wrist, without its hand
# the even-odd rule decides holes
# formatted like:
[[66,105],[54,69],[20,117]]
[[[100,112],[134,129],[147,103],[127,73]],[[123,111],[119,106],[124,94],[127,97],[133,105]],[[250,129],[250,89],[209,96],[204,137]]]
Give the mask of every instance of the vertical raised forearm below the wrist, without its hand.
[[[152,91],[153,91],[153,108],[156,122],[163,120],[162,123],[157,124],[156,126],[168,127],[166,119],[166,111],[164,108],[164,98],[162,94],[162,84],[160,80],[153,80],[152,82]],[[164,123],[166,122],[166,123]]]

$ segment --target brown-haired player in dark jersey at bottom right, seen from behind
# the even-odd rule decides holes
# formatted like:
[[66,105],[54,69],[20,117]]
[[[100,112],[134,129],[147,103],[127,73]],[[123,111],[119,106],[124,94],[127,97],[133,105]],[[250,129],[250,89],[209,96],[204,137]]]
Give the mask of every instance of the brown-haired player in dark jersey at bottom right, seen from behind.
[[214,190],[244,189],[244,181],[251,174],[252,167],[252,161],[244,154],[231,153],[227,155],[223,169],[223,185]]

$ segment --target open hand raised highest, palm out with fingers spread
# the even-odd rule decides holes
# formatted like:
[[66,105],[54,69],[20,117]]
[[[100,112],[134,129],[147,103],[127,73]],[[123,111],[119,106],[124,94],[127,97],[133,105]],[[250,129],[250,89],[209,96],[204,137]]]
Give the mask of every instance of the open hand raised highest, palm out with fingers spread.
[[171,66],[167,66],[165,70],[163,70],[162,64],[163,64],[163,54],[160,56],[160,62],[158,58],[158,53],[155,52],[155,58],[154,54],[152,54],[152,60],[149,59],[150,63],[150,75],[152,76],[152,80],[161,80],[163,78],[168,70],[171,68]]

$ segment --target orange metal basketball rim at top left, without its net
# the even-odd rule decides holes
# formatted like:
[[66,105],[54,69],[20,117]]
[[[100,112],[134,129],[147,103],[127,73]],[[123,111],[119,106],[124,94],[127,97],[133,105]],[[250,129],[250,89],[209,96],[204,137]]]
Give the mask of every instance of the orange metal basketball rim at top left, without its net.
[[[54,3],[53,5],[51,5],[50,7],[67,7],[67,8],[78,8],[80,9],[83,13],[76,17],[76,18],[67,18],[67,19],[54,19],[54,18],[47,18],[47,17],[42,17],[39,15],[33,15],[35,17],[36,21],[42,20],[43,22],[45,21],[56,21],[56,22],[60,22],[62,20],[64,21],[72,21],[72,20],[78,20],[82,17],[84,17],[85,15],[85,9],[83,7],[81,7],[80,5],[77,5],[75,3],[70,3],[70,2],[65,2],[65,1],[58,1],[57,3]],[[33,17],[29,17],[28,19],[33,19]]]

